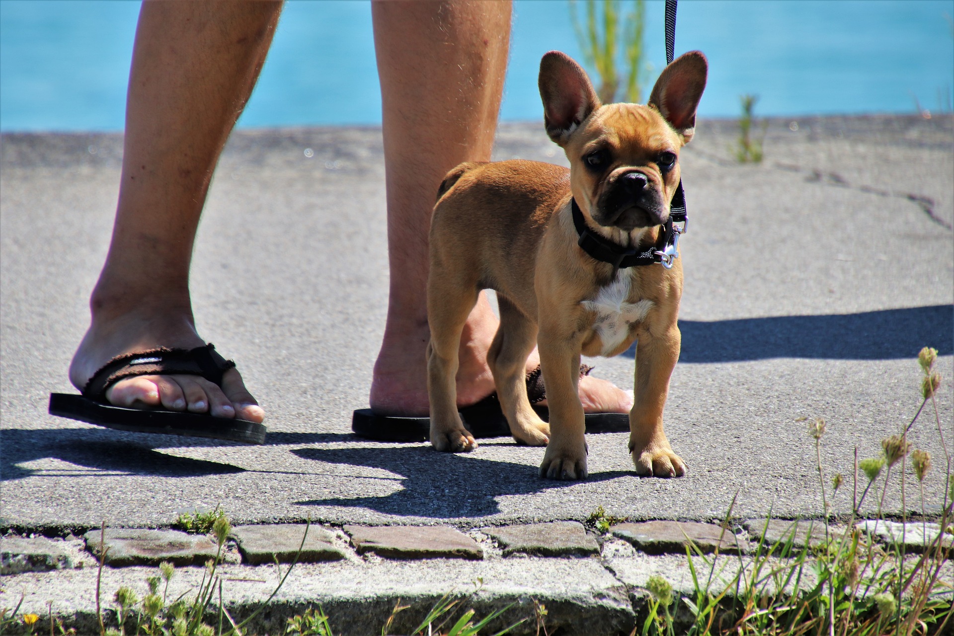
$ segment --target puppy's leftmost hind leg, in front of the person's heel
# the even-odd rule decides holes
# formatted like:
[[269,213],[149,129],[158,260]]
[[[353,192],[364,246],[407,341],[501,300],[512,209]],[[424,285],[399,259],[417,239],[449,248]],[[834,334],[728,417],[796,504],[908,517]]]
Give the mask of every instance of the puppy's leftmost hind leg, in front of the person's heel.
[[439,451],[463,453],[477,447],[457,412],[457,366],[461,333],[477,304],[476,285],[435,274],[427,281],[427,397],[430,400],[430,443]]

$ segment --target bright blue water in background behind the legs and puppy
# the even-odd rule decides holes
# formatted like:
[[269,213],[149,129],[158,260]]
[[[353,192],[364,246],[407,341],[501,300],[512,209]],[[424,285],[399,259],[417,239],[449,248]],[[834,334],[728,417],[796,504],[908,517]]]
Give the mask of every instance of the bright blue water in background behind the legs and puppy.
[[[0,0],[0,129],[117,131],[137,2]],[[370,5],[290,2],[239,127],[376,124],[381,97]],[[647,3],[652,77],[665,66],[663,3]],[[709,56],[701,116],[950,110],[954,0],[679,3],[676,51]],[[550,49],[581,59],[570,7],[517,0],[503,119],[540,119]],[[649,87],[647,87],[648,89]]]

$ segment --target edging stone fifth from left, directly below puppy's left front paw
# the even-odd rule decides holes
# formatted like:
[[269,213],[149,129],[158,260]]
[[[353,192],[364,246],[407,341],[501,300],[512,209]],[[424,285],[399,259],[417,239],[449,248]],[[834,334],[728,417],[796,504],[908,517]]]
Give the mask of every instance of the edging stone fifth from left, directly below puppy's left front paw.
[[504,556],[530,554],[538,557],[590,555],[599,552],[599,544],[578,522],[528,523],[483,528],[502,548]]

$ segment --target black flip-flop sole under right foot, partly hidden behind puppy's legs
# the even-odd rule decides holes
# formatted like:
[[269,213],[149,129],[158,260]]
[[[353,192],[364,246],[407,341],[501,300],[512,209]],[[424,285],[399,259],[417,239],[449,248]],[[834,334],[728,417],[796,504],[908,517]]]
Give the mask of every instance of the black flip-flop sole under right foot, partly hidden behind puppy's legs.
[[[550,420],[545,406],[534,406],[544,421]],[[499,406],[478,402],[461,409],[461,419],[475,438],[502,438],[510,436],[510,427]],[[626,413],[588,413],[587,433],[623,433],[630,430],[630,416]],[[374,441],[427,441],[430,439],[429,418],[404,418],[375,415],[369,408],[358,409],[351,416],[351,430],[355,435]]]

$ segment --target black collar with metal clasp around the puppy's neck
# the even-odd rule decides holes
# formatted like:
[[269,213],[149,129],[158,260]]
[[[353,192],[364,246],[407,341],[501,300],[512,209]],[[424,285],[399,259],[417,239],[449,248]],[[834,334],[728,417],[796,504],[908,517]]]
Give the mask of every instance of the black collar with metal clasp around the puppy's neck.
[[[659,263],[666,269],[673,267],[673,259],[679,257],[676,248],[679,244],[679,236],[685,234],[689,225],[689,216],[686,214],[686,195],[682,190],[682,181],[675,189],[673,200],[669,207],[669,220],[663,224],[662,236],[656,245],[653,245],[642,252],[637,252],[633,248],[623,247],[612,240],[607,240],[590,231],[587,227],[580,206],[576,204],[576,199],[571,199],[570,208],[572,209],[573,225],[576,227],[576,234],[580,236],[576,243],[584,252],[604,263],[610,263],[615,269],[626,269],[628,267],[639,267],[642,265],[653,265]],[[679,228],[674,223],[683,223]]]

